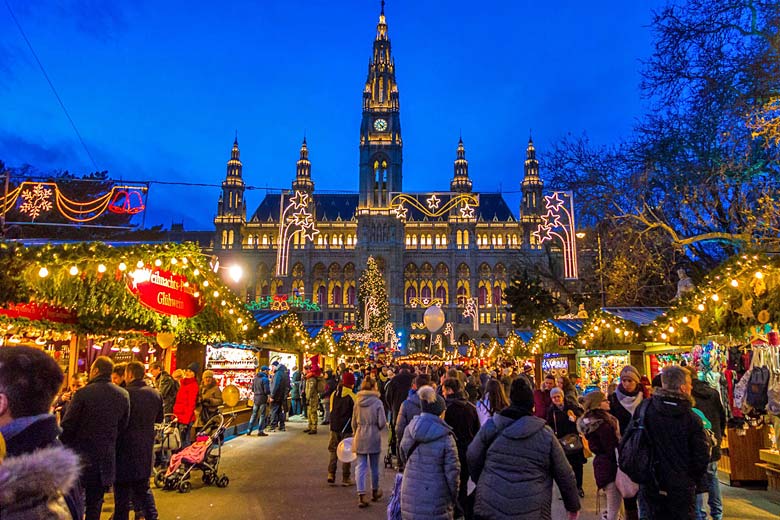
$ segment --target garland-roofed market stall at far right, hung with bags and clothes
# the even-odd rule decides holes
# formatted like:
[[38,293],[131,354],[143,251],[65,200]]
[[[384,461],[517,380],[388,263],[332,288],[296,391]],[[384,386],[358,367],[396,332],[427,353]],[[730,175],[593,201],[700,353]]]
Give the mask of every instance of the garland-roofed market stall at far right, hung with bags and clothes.
[[727,412],[719,477],[780,484],[780,256],[740,254],[682,294],[656,320],[655,340],[690,345],[699,378]]

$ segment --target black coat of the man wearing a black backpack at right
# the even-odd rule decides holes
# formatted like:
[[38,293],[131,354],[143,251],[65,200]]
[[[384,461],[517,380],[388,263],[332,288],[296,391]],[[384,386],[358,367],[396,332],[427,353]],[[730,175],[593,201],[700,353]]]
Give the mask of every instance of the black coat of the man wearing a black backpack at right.
[[692,490],[707,471],[709,445],[688,396],[658,389],[645,412],[662,490]]

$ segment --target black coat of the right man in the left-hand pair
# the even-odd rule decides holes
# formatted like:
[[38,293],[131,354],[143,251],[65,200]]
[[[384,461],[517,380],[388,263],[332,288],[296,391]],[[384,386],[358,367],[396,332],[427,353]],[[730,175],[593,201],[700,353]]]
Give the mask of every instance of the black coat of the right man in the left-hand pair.
[[136,379],[127,385],[127,393],[130,419],[117,442],[117,482],[135,482],[152,474],[154,423],[163,419],[163,400],[157,390]]

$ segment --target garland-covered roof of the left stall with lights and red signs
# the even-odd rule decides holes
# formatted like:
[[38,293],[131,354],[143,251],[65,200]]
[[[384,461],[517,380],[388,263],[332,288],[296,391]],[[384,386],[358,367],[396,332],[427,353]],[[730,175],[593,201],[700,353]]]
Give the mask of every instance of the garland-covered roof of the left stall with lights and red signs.
[[[5,343],[37,335],[55,357],[67,355],[70,374],[98,355],[163,360],[173,369],[208,343],[241,341],[256,330],[193,244],[4,243],[0,263]],[[57,349],[68,337],[66,354]]]

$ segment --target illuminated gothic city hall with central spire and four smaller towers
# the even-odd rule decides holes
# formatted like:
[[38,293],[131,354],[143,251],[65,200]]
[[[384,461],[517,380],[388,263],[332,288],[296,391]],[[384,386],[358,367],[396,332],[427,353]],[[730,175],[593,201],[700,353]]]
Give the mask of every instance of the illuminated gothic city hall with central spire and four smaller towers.
[[[435,303],[458,343],[505,336],[512,320],[502,293],[512,269],[521,257],[543,255],[533,235],[544,213],[534,145],[529,140],[518,175],[519,217],[500,193],[473,190],[462,139],[454,152],[448,187],[404,192],[399,86],[382,12],[363,88],[357,193],[317,193],[304,139],[291,189],[267,193],[247,214],[236,139],[214,219],[214,251],[222,262],[244,266],[247,301],[286,294],[318,304],[318,311],[303,313],[304,323],[354,324],[360,275],[373,256],[395,330],[421,329],[423,313]],[[463,318],[472,298],[479,331]]]

